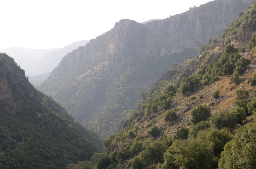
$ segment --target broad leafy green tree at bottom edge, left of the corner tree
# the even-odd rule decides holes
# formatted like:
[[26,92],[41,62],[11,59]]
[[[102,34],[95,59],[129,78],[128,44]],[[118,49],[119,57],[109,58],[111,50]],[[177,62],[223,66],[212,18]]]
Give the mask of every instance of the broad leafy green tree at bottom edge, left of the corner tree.
[[216,164],[212,142],[206,140],[175,140],[164,153],[164,169],[212,168]]

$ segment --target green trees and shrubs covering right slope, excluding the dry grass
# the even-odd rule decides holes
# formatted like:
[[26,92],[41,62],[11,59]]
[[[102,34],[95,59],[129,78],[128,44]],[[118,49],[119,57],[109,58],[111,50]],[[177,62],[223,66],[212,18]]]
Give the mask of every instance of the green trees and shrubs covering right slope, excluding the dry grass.
[[[253,10],[254,6],[251,8]],[[226,30],[223,34],[225,32]],[[254,37],[253,35],[250,40],[251,44],[254,44]],[[208,46],[202,46],[200,50],[211,46],[212,42],[220,41],[218,38],[210,39]],[[237,89],[233,102],[235,107],[215,112],[213,115],[210,107],[198,104],[189,111],[191,118],[185,126],[179,126],[174,135],[165,133],[167,126],[176,123],[177,103],[174,105],[173,99],[177,99],[177,96],[187,96],[196,88],[215,83],[221,76],[229,78],[230,83],[243,83],[240,75],[245,72],[250,60],[241,57],[238,49],[229,43],[223,48],[219,59],[213,63],[210,53],[200,50],[202,56],[199,59],[182,63],[182,66],[190,69],[197,67],[196,73],[187,75],[179,72],[180,67],[178,69],[177,65],[173,65],[175,67],[169,70],[173,75],[170,81],[155,83],[147,93],[142,91],[142,100],[138,102],[137,109],[133,111],[123,131],[104,140],[105,153],[101,154],[97,167],[111,169],[125,163],[134,169],[150,166],[156,169],[255,168],[255,151],[252,148],[256,145],[255,122],[244,124],[244,120],[252,119],[252,115],[255,119],[255,89],[252,93]],[[255,77],[248,83],[254,86]],[[254,96],[251,100],[250,94]],[[218,100],[220,95],[220,90],[215,90],[212,98]],[[202,98],[200,95],[200,99]],[[195,104],[195,99],[195,96],[190,97],[191,105]],[[156,125],[154,117],[162,113],[163,120],[158,118]],[[159,127],[159,122],[169,125]],[[141,125],[144,123],[147,125]],[[147,134],[143,132],[142,136],[141,133],[145,130]]]

